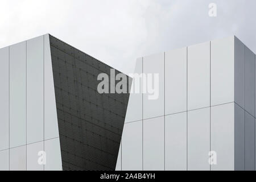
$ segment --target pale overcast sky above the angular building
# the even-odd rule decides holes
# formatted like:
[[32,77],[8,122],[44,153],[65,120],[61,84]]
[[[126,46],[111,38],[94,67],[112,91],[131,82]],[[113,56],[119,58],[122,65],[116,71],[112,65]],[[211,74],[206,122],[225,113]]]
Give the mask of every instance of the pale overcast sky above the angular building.
[[0,47],[49,33],[131,73],[137,57],[230,35],[256,53],[255,19],[255,0],[1,0]]

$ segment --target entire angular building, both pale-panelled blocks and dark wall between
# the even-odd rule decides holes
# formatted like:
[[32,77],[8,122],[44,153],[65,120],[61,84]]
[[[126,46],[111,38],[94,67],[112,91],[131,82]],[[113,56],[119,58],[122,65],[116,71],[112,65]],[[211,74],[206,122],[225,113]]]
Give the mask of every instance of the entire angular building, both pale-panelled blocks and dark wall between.
[[0,170],[255,170],[255,54],[236,36],[139,58],[131,94],[100,94],[121,72],[49,34],[0,61]]

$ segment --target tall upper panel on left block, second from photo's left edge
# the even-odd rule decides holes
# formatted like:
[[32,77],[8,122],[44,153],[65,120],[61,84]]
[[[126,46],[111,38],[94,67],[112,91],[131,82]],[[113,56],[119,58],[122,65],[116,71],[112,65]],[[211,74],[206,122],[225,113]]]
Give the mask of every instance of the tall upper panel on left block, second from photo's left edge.
[[10,147],[26,144],[26,42],[10,46]]

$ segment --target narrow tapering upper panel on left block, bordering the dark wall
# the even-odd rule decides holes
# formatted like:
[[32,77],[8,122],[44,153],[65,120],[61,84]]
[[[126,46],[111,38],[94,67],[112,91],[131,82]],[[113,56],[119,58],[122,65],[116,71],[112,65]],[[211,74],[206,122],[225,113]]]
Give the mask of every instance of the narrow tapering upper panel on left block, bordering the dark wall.
[[44,139],[59,137],[49,34],[44,35]]

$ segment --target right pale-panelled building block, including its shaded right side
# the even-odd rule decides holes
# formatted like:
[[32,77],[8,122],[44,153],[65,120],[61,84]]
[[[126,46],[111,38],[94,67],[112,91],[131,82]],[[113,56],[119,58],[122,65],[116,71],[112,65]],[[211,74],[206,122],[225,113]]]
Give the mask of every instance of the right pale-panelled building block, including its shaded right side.
[[255,66],[236,36],[139,58],[159,97],[130,94],[116,170],[255,170]]

